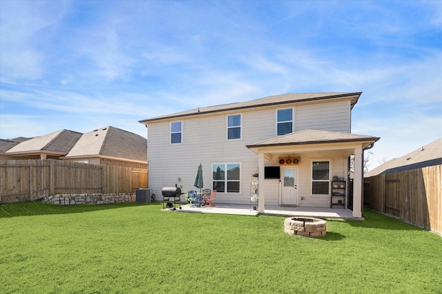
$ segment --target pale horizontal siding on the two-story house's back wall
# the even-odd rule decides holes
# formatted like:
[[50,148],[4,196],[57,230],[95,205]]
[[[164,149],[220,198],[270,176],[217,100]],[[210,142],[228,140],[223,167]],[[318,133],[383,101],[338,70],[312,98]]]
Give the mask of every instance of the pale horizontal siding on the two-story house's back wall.
[[[242,109],[182,119],[182,143],[171,144],[170,122],[160,120],[148,123],[149,188],[157,200],[162,200],[163,187],[180,187],[186,192],[193,187],[197,167],[202,163],[204,188],[212,189],[212,164],[239,162],[241,165],[240,193],[218,193],[215,203],[249,203],[252,171],[258,170],[258,155],[246,145],[276,136],[276,109],[294,107],[295,128],[349,132],[349,101],[327,103],[298,103],[283,107]],[[242,136],[227,140],[227,114],[241,114]],[[304,155],[303,155],[304,156]],[[324,156],[324,154],[321,154]],[[308,203],[325,205],[329,198],[309,195],[309,160],[302,157],[299,196],[308,197]],[[338,160],[339,158],[336,158]],[[342,160],[342,158],[340,158]],[[278,165],[268,162],[265,165]],[[301,176],[302,174],[302,176]],[[178,181],[180,178],[181,181]],[[279,180],[266,180],[266,204],[278,205]],[[184,201],[185,196],[182,196]]]

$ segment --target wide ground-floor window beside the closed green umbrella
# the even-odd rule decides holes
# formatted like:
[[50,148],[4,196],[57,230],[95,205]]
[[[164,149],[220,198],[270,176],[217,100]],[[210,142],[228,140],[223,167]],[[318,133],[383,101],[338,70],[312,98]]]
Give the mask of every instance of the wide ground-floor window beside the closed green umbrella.
[[213,189],[218,193],[240,193],[241,165],[239,163],[216,163],[212,165]]

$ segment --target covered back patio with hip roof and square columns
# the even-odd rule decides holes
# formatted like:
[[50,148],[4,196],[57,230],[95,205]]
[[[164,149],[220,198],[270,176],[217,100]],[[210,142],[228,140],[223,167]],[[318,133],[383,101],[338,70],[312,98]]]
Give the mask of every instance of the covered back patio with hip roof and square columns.
[[[262,214],[276,213],[288,216],[317,217],[321,217],[322,214],[324,218],[363,219],[363,152],[365,149],[371,148],[377,140],[379,140],[379,138],[373,136],[302,129],[298,132],[264,140],[254,143],[253,145],[246,145],[247,148],[258,154],[258,182],[260,185],[258,212]],[[348,162],[349,156],[354,156],[352,210],[345,208],[326,208],[324,204],[330,201],[329,197],[332,192],[328,190],[325,191],[325,193],[324,191],[314,193],[312,189],[310,190],[310,188],[313,187],[314,180],[316,180],[313,179],[312,176],[312,165],[314,165],[315,160],[317,163],[320,163],[320,160],[324,160],[324,162],[327,163],[327,168],[325,169],[326,185],[330,185],[332,174],[339,174],[339,178],[343,178],[343,180],[347,182],[349,180],[349,164],[347,165],[346,163]],[[298,176],[300,180],[297,181],[296,176],[293,176],[295,179],[293,189],[287,185],[289,189],[295,191],[293,194],[296,202],[291,204],[296,204],[296,208],[289,207],[287,210],[282,206],[282,200],[280,200],[279,207],[268,206],[267,198],[270,198],[269,196],[271,195],[268,193],[269,190],[266,189],[266,185],[268,185],[269,182],[265,180],[266,165],[275,165],[279,158],[285,157],[298,158],[299,162],[301,162],[299,167],[296,167],[296,172],[294,171],[293,173],[295,175],[300,174],[300,176]],[[304,162],[303,165],[302,162]],[[331,187],[331,185],[329,187]],[[301,189],[303,189],[302,193],[299,194]],[[302,200],[302,198],[308,198],[308,200],[311,201],[309,203],[310,205],[300,203],[299,199]],[[312,205],[312,202],[315,200],[317,201],[314,203],[316,205]],[[332,207],[332,205],[330,206]],[[344,205],[344,207],[346,206]]]

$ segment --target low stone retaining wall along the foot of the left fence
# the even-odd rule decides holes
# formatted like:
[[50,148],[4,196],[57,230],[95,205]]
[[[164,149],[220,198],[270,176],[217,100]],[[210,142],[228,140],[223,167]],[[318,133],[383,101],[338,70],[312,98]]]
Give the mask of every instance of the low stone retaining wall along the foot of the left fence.
[[119,194],[57,194],[46,196],[43,202],[59,205],[75,204],[110,204],[121,202],[135,202],[135,193]]

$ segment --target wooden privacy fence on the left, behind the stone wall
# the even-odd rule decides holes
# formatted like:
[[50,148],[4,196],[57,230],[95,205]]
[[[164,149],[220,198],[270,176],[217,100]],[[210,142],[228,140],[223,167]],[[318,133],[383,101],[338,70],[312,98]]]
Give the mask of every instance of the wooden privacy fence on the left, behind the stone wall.
[[147,182],[147,169],[53,159],[0,160],[0,203],[55,194],[133,193]]

